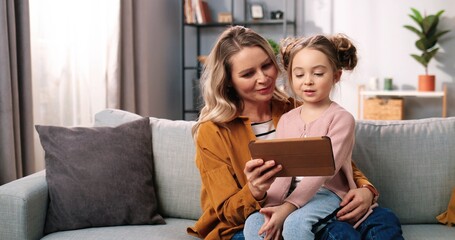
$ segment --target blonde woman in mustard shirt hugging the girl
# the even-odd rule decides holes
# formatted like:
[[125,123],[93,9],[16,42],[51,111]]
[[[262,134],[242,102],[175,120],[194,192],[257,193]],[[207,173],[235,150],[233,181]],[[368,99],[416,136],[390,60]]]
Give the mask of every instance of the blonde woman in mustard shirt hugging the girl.
[[[203,213],[189,234],[243,239],[246,218],[263,206],[281,166],[251,159],[248,143],[274,137],[274,128],[262,129],[262,123],[273,121],[274,127],[298,105],[276,88],[278,74],[267,40],[241,26],[225,30],[207,57],[201,77],[205,106],[193,129]],[[368,211],[374,198],[370,189],[376,191],[355,166],[353,172],[359,188],[348,192],[339,212],[339,219],[349,222]]]

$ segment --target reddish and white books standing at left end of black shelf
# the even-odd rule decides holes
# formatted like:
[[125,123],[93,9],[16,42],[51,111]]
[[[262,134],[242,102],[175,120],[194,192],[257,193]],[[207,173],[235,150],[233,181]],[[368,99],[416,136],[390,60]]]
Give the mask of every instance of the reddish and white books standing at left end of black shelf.
[[185,22],[188,24],[203,24],[212,22],[210,8],[204,0],[185,0]]

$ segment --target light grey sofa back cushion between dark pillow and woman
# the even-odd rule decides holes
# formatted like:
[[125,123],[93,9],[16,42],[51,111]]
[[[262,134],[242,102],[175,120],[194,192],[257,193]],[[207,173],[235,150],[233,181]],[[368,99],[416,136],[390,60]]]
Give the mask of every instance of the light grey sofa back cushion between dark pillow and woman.
[[[105,109],[95,115],[95,125],[116,126],[138,118],[131,112]],[[201,215],[201,180],[191,135],[194,123],[150,117],[155,189],[159,212],[165,217],[198,219]]]

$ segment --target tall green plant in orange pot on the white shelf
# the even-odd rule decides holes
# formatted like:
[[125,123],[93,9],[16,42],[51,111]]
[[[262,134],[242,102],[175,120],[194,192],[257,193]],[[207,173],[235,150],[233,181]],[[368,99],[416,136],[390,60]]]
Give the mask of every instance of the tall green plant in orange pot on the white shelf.
[[412,14],[409,17],[417,23],[418,28],[410,25],[405,25],[406,29],[417,34],[419,39],[415,45],[421,51],[421,54],[411,54],[425,68],[425,75],[419,75],[419,91],[434,91],[435,76],[428,74],[428,63],[439,51],[437,47],[439,38],[448,33],[449,30],[440,31],[438,29],[439,17],[444,13],[444,10],[439,11],[434,15],[422,15],[417,9],[411,8]]

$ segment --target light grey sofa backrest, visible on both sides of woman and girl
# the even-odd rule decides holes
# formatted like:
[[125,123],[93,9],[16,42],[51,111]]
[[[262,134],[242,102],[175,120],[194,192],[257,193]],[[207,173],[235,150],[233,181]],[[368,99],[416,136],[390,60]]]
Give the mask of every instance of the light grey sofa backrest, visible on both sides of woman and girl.
[[[95,125],[139,119],[126,111],[97,113]],[[150,118],[155,187],[165,217],[198,219],[200,176],[194,162],[194,122]],[[378,188],[379,204],[403,224],[436,223],[455,187],[455,117],[356,123],[353,159]]]

